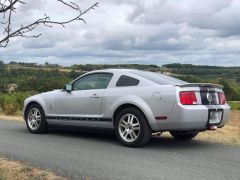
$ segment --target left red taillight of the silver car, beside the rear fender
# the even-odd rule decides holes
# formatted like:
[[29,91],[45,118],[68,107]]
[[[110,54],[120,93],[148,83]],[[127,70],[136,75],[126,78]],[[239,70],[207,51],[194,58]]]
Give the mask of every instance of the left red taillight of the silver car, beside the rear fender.
[[194,91],[182,91],[179,93],[180,102],[183,105],[195,105],[197,104],[197,98]]

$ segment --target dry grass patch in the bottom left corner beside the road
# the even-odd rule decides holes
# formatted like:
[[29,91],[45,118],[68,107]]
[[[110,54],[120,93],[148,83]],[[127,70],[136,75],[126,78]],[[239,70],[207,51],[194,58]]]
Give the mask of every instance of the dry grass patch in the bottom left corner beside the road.
[[64,180],[51,172],[0,158],[0,180]]

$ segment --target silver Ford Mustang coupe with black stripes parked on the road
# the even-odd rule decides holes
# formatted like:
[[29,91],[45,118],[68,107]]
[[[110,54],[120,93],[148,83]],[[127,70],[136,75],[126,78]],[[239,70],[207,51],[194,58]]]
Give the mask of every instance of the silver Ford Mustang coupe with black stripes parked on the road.
[[119,141],[131,147],[164,131],[188,140],[227,122],[230,107],[222,88],[147,71],[98,70],[61,90],[27,98],[24,119],[31,133],[45,133],[49,125],[114,129]]

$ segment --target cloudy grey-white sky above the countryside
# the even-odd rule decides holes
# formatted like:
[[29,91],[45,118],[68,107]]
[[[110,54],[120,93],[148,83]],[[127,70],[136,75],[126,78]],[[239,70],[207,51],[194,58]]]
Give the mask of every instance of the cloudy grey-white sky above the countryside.
[[[73,11],[56,0],[25,0],[15,27],[48,14],[65,20]],[[86,24],[39,27],[38,39],[14,38],[0,60],[72,64],[168,64],[240,66],[239,0],[75,0]],[[0,25],[2,27],[2,25]],[[0,29],[2,31],[2,29]],[[2,34],[0,34],[0,37]]]

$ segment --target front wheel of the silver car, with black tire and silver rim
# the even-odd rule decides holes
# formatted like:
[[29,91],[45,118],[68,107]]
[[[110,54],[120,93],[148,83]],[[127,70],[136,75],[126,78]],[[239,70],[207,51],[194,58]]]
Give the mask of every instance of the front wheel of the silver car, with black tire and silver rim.
[[44,111],[39,104],[32,104],[26,111],[26,125],[32,134],[47,133],[48,126]]

